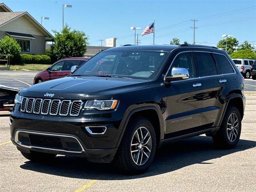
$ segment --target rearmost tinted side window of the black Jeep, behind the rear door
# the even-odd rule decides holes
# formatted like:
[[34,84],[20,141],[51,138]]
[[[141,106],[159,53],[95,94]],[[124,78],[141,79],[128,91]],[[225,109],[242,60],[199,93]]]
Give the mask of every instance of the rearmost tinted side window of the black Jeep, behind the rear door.
[[233,73],[232,66],[224,55],[213,54],[218,69],[218,74]]

